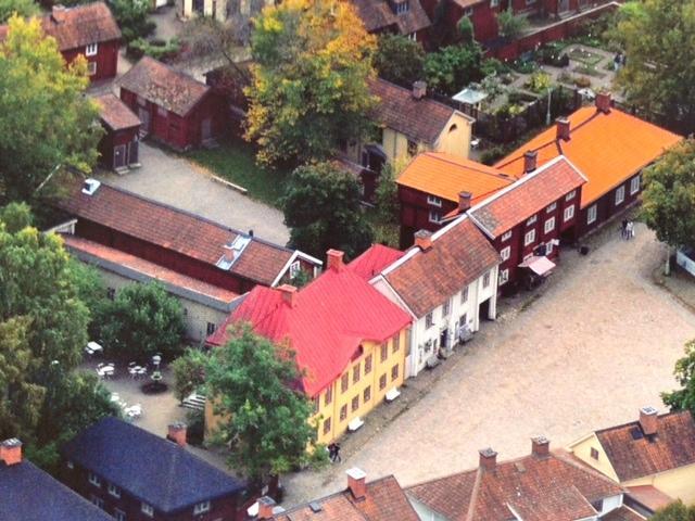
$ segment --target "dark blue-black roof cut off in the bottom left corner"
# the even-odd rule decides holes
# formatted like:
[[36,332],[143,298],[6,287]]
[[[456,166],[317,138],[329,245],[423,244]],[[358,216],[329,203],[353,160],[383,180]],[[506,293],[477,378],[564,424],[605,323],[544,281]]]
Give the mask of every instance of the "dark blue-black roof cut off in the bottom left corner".
[[9,467],[0,461],[0,520],[109,521],[112,518],[25,459]]

